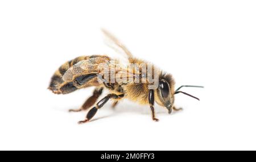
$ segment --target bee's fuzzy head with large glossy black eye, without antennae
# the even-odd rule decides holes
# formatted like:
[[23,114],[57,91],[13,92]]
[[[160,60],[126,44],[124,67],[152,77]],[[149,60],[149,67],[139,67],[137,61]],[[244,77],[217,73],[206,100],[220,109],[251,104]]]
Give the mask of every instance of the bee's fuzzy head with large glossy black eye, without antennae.
[[175,81],[171,74],[160,74],[159,86],[156,90],[156,102],[168,109],[168,113],[171,113],[174,106],[174,85]]

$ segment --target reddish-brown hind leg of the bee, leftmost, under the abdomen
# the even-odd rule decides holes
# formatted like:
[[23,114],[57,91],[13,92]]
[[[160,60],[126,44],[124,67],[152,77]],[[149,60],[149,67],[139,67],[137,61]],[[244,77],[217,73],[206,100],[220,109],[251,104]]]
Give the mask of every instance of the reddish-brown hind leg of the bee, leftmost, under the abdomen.
[[100,89],[95,89],[93,92],[93,95],[91,97],[89,97],[84,104],[82,105],[82,107],[80,107],[80,109],[70,109],[69,112],[79,112],[82,110],[86,110],[89,109],[91,106],[94,105],[94,103],[97,101],[98,97],[100,97],[101,93],[102,93],[103,88]]

